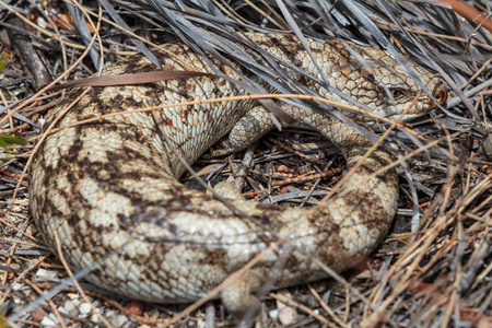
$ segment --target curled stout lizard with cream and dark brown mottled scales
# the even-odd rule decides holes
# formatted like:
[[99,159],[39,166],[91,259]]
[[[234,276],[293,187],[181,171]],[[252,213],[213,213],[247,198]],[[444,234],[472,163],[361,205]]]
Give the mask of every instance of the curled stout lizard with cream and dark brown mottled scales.
[[[271,55],[318,77],[295,37],[249,36]],[[370,72],[339,42],[308,39],[308,44],[329,83],[380,116],[398,116],[419,91],[386,51],[351,45],[372,66]],[[164,48],[176,55],[171,57],[154,49],[166,69],[211,71],[183,44]],[[221,69],[231,71],[226,67]],[[244,68],[238,69],[246,73]],[[419,66],[413,69],[436,98],[445,98],[438,79],[431,79],[431,73]],[[148,59],[133,56],[106,68],[103,74],[152,70],[154,67]],[[305,80],[295,75],[294,79]],[[306,84],[327,98],[341,101],[319,85]],[[384,86],[396,95],[395,99],[388,97]],[[71,91],[45,127],[81,92]],[[241,94],[245,91],[209,77],[95,87],[57,127],[102,114]],[[422,94],[411,113],[419,114],[433,105]],[[312,261],[313,257],[336,270],[366,257],[385,236],[397,209],[395,171],[367,178],[391,163],[384,150],[376,150],[348,179],[344,196],[318,207],[313,215],[307,215],[309,209],[233,199],[232,203],[250,216],[238,218],[221,201],[187,189],[178,181],[185,166],[175,151],[192,163],[237,121],[242,125],[230,136],[235,149],[263,134],[270,124],[266,122],[266,128],[250,128],[253,116],[241,119],[253,108],[260,114],[263,125],[265,110],[254,101],[244,101],[155,112],[164,138],[150,113],[120,115],[49,134],[36,154],[30,186],[31,210],[46,243],[56,248],[57,231],[63,256],[75,271],[109,255],[85,279],[119,294],[156,303],[187,303],[206,295],[227,274],[288,233],[286,243],[293,248],[276,282],[278,288],[327,277]],[[329,138],[343,152],[349,167],[372,145],[337,120],[290,106],[284,109]],[[225,191],[221,194],[227,197]],[[297,225],[293,229],[294,223]],[[281,256],[284,256],[281,250],[276,249],[262,258],[243,282],[222,293],[224,304],[232,312],[249,306],[251,300],[246,294],[257,290]]]

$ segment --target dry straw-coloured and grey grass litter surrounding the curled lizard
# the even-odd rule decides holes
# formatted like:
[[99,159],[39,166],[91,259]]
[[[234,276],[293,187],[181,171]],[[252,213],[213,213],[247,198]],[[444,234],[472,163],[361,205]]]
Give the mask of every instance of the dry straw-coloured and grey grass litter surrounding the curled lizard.
[[[376,47],[379,43],[438,71],[454,96],[447,108],[430,113],[426,119],[413,122],[410,130],[396,129],[387,138],[388,144],[398,147],[396,155],[405,156],[398,166],[399,212],[389,235],[365,263],[341,277],[333,273],[332,280],[269,294],[262,324],[492,327],[492,163],[478,151],[491,129],[490,32],[471,25],[445,5],[425,1],[400,1],[394,7],[386,1],[345,0],[330,7],[320,0],[302,4],[285,0],[291,17],[273,1],[202,1],[208,2],[207,8],[183,1],[189,5],[186,9],[153,7],[151,1],[110,1],[129,27],[112,23],[115,16],[101,15],[103,10],[97,7],[73,8],[72,14],[85,16],[74,23],[67,22],[68,2],[11,2],[8,5],[0,0],[4,55],[0,134],[27,140],[25,145],[13,140],[10,153],[0,153],[0,312],[12,326],[51,321],[57,327],[145,327],[179,319],[176,326],[201,327],[223,326],[227,320],[219,302],[189,313],[183,312],[183,306],[155,306],[115,297],[86,283],[81,283],[85,291],[82,297],[70,279],[63,280],[68,273],[43,245],[31,220],[28,181],[24,177],[27,159],[38,139],[39,119],[49,114],[63,93],[34,90],[50,81],[43,74],[34,79],[23,70],[25,62],[10,48],[7,28],[11,28],[10,33],[16,31],[20,37],[30,37],[39,62],[52,77],[65,74],[63,80],[87,77],[101,65],[142,51],[143,44],[181,38],[190,46],[211,51],[208,45],[197,42],[219,35],[224,46],[229,40],[241,43],[232,30],[294,31]],[[490,15],[490,8],[483,5],[487,1],[469,2],[483,12],[489,10]],[[13,27],[19,24],[11,21],[13,16],[23,21],[22,28]],[[89,31],[85,43],[75,25],[80,31]],[[143,43],[132,44],[127,34]],[[95,48],[87,55],[84,44],[91,38]],[[80,63],[73,65],[79,59]],[[246,59],[237,55],[234,60]],[[285,93],[303,91],[288,79],[277,79],[274,67],[250,69]],[[286,141],[276,140],[279,136],[288,137]],[[293,141],[292,136],[301,140]],[[314,156],[328,162],[332,150],[321,150],[317,136],[290,131],[273,132],[269,138],[254,154],[256,171],[284,165],[292,175],[282,178],[294,179],[290,181],[294,184],[292,188],[313,189],[318,195],[333,184],[320,183],[319,178],[331,175],[336,166],[327,168],[319,162],[306,161],[305,155],[297,156],[298,143],[306,143],[304,147],[311,148]],[[222,164],[225,169],[221,174],[226,176],[231,171],[229,163]],[[335,165],[339,165],[339,160]],[[307,177],[303,176],[306,173]],[[246,180],[253,189],[249,195],[263,195],[265,190],[258,191],[259,185],[269,184],[269,178],[260,174],[248,176]],[[290,312],[292,316],[281,315],[279,321],[276,311]],[[2,326],[5,324],[0,320]]]

